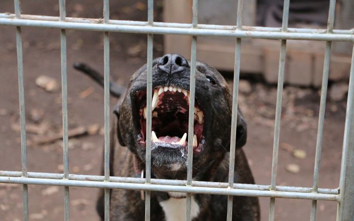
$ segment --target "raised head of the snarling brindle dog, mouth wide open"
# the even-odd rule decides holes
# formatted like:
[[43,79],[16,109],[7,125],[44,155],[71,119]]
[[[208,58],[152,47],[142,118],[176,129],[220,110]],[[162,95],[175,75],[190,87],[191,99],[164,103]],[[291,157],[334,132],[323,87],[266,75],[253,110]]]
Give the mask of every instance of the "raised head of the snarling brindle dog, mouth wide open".
[[[223,76],[206,63],[196,63],[194,136],[188,137],[190,65],[181,55],[153,61],[151,165],[158,178],[186,177],[188,140],[193,139],[193,176],[220,162],[230,150],[231,94]],[[146,154],[147,67],[130,79],[116,114],[118,140],[142,161]],[[246,122],[237,115],[236,146],[246,143]]]

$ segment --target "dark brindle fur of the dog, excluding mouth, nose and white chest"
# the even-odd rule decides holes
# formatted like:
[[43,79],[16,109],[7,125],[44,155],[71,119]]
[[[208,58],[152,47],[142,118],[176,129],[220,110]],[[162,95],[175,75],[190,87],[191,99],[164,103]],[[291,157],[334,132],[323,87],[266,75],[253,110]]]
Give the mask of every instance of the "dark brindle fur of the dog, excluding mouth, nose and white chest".
[[[172,55],[175,56],[175,55]],[[159,68],[158,59],[153,62],[153,87],[174,85],[189,89],[189,66],[166,74]],[[206,80],[212,76],[215,84]],[[121,104],[115,108],[117,119],[111,130],[111,175],[135,177],[134,157],[145,161],[145,148],[137,143],[136,124],[134,122],[134,93],[146,90],[146,65],[140,68],[130,80],[127,92]],[[228,182],[229,151],[231,133],[232,100],[227,82],[214,68],[203,62],[197,62],[196,98],[204,111],[206,129],[204,150],[193,156],[193,179],[198,181]],[[211,98],[211,99],[210,99]],[[204,106],[203,106],[204,105]],[[246,143],[247,126],[240,111],[237,116],[237,140],[235,157],[235,183],[254,184],[253,176],[241,147]],[[125,147],[126,146],[126,147]],[[152,178],[186,179],[186,168],[171,173],[166,166],[169,162],[187,160],[178,154],[163,148],[152,148]],[[145,168],[145,164],[140,165]],[[167,171],[167,172],[166,172]],[[159,201],[168,198],[167,194],[152,192],[151,220],[164,220],[164,212]],[[104,217],[103,191],[100,194],[97,209]],[[111,190],[111,220],[144,220],[145,202],[140,191]],[[193,220],[225,220],[227,214],[227,196],[196,194],[200,207],[198,217]],[[259,220],[259,204],[255,197],[233,198],[233,220]]]

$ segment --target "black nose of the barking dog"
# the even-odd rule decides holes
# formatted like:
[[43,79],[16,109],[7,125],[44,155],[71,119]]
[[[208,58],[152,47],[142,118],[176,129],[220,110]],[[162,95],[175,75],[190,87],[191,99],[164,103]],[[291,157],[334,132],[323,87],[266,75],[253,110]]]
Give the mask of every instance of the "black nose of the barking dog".
[[189,67],[187,59],[178,54],[167,54],[160,58],[157,66],[168,74],[183,71]]

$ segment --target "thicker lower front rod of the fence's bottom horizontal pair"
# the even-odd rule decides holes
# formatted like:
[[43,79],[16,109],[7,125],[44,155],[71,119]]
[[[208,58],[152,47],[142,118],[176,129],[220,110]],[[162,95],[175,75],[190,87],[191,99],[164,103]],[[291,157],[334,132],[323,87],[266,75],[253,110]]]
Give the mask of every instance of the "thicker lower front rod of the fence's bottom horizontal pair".
[[98,182],[98,181],[55,180],[55,179],[25,178],[25,177],[11,177],[11,176],[0,176],[0,183],[68,186],[68,187],[92,187],[92,188],[105,188],[105,189],[109,188],[109,189],[252,196],[252,197],[277,197],[277,198],[289,198],[289,199],[327,200],[327,201],[338,201],[339,199],[338,195],[321,194],[321,193],[298,193],[298,192],[243,190],[243,189],[215,188],[215,187],[172,186],[172,185],[157,185],[157,184],[146,184],[146,183],[135,184],[135,183],[115,183],[115,182]]

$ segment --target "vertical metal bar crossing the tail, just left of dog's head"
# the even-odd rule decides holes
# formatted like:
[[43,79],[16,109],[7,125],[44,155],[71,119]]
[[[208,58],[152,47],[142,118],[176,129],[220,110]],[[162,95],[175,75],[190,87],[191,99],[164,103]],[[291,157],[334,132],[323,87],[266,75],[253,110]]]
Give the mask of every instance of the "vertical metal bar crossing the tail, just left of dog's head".
[[[104,23],[109,23],[109,0],[103,1]],[[103,35],[104,55],[104,106],[105,106],[105,182],[109,182],[109,32]],[[110,190],[105,189],[105,221],[109,221]]]

